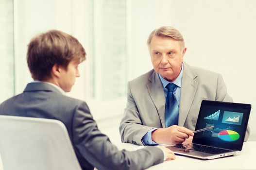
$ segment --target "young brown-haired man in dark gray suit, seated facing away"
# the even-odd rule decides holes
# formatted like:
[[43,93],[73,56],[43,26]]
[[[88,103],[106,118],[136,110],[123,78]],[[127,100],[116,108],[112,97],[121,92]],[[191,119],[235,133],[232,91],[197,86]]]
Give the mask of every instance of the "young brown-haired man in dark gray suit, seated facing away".
[[[140,170],[174,154],[165,147],[135,152],[119,151],[103,135],[83,101],[64,95],[79,77],[78,65],[85,50],[71,35],[52,30],[34,37],[28,47],[27,63],[34,82],[24,92],[0,104],[0,115],[57,119],[68,135],[83,170]],[[166,158],[164,158],[164,155]]]

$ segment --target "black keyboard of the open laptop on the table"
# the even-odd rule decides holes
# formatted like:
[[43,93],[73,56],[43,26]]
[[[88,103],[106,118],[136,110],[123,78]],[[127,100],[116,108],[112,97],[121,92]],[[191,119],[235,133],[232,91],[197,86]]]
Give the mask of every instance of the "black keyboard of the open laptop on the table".
[[178,144],[178,145],[175,145],[174,147],[188,149],[188,150],[194,150],[194,151],[199,151],[199,152],[204,152],[204,153],[211,153],[211,154],[227,153],[227,152],[231,151],[231,150],[214,148],[214,147],[209,147],[209,146],[204,146],[204,145],[197,145],[197,144],[192,144],[192,143]]

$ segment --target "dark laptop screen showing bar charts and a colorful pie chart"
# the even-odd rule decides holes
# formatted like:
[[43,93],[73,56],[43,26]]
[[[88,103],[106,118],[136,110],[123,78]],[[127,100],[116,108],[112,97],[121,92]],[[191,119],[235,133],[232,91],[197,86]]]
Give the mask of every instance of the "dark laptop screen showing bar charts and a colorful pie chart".
[[195,130],[214,127],[195,133],[192,142],[240,151],[250,111],[251,104],[202,101]]

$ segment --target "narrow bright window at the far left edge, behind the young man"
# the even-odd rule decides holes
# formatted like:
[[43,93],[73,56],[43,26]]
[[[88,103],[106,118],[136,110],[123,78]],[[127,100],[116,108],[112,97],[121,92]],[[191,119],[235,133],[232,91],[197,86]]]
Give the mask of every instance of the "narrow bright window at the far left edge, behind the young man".
[[0,102],[14,95],[13,0],[0,0]]

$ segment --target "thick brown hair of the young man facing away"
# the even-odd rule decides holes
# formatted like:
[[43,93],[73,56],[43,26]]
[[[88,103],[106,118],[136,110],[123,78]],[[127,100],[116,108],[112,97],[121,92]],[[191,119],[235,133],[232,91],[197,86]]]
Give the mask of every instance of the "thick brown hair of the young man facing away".
[[64,68],[72,60],[85,60],[85,49],[73,36],[51,30],[35,36],[28,45],[27,63],[34,80],[51,77],[51,68],[56,64]]

